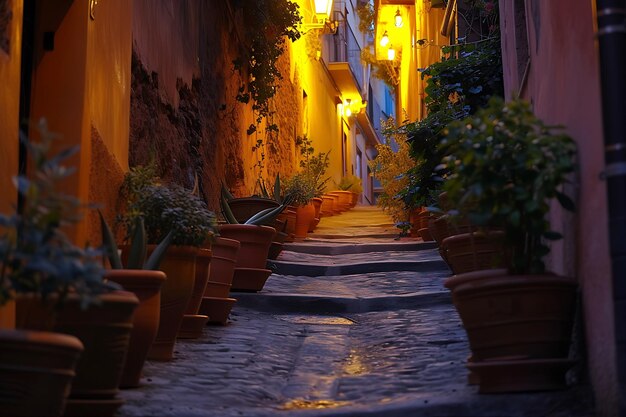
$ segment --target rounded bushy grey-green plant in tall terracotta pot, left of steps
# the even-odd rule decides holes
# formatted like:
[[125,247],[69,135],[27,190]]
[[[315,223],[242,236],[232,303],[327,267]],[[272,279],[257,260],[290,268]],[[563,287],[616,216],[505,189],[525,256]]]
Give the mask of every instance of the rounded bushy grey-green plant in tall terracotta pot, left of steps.
[[[150,167],[132,168],[122,183],[120,195],[126,204],[126,213],[120,221],[132,224],[137,216],[144,218],[148,251],[154,250],[156,244],[172,232],[172,244],[160,265],[167,275],[161,288],[161,320],[148,353],[150,359],[170,360],[193,294],[196,258],[202,251],[200,247],[216,232],[215,215],[190,190],[176,184],[163,184]],[[204,323],[207,320],[206,317],[197,319],[203,319]]]

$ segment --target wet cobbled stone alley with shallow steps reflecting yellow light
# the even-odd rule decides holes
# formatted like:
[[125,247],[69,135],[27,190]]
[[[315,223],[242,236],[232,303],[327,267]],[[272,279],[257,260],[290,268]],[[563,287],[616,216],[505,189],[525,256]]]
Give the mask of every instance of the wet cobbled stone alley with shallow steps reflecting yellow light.
[[594,415],[586,385],[481,395],[467,384],[469,348],[432,244],[396,239],[369,207],[319,226],[270,265],[262,292],[233,295],[228,325],[178,341],[171,362],[147,362],[118,415]]

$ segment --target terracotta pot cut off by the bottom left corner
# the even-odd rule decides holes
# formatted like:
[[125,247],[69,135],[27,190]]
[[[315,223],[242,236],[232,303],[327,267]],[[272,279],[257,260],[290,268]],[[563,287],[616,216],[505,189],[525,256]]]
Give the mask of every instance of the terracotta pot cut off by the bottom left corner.
[[4,416],[60,416],[83,344],[70,335],[0,330]]

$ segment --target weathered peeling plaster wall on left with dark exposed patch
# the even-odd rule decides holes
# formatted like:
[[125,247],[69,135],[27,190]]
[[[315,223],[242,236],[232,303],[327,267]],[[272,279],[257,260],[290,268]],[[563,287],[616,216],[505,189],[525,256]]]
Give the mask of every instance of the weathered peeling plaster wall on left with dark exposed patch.
[[166,180],[188,187],[197,173],[213,209],[221,181],[235,195],[255,192],[258,139],[265,143],[263,177],[290,172],[302,93],[297,76],[289,78],[289,57],[279,62],[285,78],[271,104],[280,133],[267,138],[262,126],[248,136],[254,116],[251,104],[235,99],[242,78],[232,64],[240,13],[207,0],[137,0],[133,10],[130,165],[156,159]]

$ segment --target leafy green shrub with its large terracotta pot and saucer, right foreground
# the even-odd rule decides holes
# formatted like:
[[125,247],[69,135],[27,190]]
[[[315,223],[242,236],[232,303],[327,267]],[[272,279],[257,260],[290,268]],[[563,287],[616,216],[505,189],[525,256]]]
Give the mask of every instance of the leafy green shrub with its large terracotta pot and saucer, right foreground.
[[513,100],[454,122],[447,129],[452,206],[481,227],[502,231],[506,269],[459,274],[445,285],[468,334],[481,392],[564,386],[577,283],[546,271],[557,200],[573,210],[561,187],[574,171],[575,143]]

